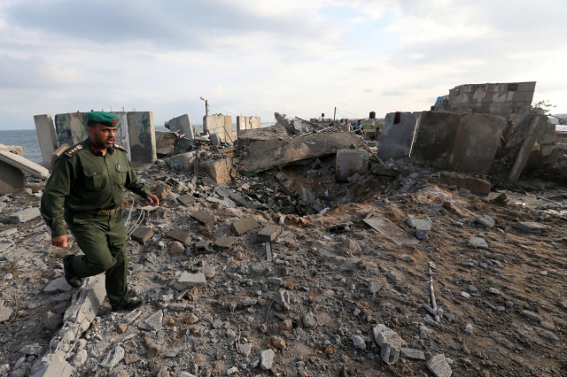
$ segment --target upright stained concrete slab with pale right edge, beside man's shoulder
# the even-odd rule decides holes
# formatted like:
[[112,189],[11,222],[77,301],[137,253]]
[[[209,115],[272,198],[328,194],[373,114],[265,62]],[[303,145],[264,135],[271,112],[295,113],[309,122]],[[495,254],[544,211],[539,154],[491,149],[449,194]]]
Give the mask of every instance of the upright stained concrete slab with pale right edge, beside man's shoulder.
[[158,159],[153,112],[128,112],[128,133],[132,161],[152,163]]

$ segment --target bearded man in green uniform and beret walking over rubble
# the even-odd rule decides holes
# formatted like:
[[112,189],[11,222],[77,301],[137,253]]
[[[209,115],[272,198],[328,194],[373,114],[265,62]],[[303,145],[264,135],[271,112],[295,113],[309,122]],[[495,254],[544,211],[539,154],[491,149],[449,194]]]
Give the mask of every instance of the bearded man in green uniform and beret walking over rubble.
[[82,278],[105,273],[106,296],[113,311],[143,304],[128,296],[126,227],[122,221],[122,186],[159,205],[136,176],[126,150],[114,143],[119,119],[108,112],[88,112],[89,138],[57,158],[42,196],[41,212],[51,228],[51,244],[65,248],[67,227],[84,255],[63,259],[66,281],[81,287]]

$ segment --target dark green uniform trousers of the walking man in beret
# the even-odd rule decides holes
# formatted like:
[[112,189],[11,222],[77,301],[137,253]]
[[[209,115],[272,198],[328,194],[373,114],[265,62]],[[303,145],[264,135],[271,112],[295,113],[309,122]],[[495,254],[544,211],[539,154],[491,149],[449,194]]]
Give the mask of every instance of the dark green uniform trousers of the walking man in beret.
[[73,258],[74,275],[105,273],[106,296],[113,306],[128,304],[128,255],[122,211],[113,215],[65,213],[67,227],[84,255]]

